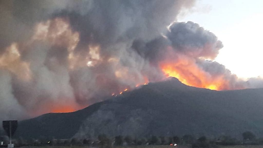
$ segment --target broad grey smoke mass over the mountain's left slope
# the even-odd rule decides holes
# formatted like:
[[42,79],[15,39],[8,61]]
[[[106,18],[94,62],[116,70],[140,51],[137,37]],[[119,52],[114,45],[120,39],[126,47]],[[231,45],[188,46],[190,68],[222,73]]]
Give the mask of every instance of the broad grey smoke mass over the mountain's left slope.
[[161,70],[131,50],[132,42],[154,40],[193,4],[1,1],[1,119],[77,110],[161,80]]

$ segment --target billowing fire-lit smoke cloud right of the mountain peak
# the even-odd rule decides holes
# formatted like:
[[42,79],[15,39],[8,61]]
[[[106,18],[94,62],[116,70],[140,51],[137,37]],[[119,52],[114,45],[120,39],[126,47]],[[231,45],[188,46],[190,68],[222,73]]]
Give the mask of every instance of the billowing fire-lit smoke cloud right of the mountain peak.
[[223,47],[211,32],[193,22],[174,22],[168,32],[152,41],[135,40],[133,49],[182,83],[212,90],[262,87],[262,78],[239,79],[225,66],[211,61]]

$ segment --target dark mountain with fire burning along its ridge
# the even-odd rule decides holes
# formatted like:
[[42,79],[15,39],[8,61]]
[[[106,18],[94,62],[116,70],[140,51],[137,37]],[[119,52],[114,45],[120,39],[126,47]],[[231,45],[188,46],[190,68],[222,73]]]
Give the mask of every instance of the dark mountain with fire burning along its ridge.
[[263,88],[213,91],[176,78],[149,83],[72,113],[50,113],[19,122],[24,138],[95,138],[131,135],[263,136]]

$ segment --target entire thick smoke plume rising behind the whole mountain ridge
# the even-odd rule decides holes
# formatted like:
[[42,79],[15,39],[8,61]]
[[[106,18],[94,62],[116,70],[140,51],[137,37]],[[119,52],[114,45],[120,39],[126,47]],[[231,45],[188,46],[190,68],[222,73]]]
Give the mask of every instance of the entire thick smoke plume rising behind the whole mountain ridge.
[[75,111],[168,76],[215,90],[262,87],[209,61],[223,47],[213,33],[174,22],[191,0],[0,3],[2,120]]

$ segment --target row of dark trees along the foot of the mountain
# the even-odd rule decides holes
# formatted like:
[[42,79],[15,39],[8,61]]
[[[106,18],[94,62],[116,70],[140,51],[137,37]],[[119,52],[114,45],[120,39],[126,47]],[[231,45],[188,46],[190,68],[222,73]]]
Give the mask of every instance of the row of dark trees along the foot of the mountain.
[[[97,139],[55,139],[55,138],[41,138],[41,139],[23,139],[19,137],[13,140],[13,143],[18,146],[41,146],[41,145],[90,145],[99,146],[101,148],[108,148],[114,146],[127,145],[191,145],[193,148],[200,147],[214,147],[216,145],[263,145],[263,138],[256,138],[255,134],[250,131],[242,133],[241,140],[232,138],[230,136],[220,136],[214,139],[208,139],[206,136],[194,137],[193,135],[179,136],[149,136],[136,138],[132,136],[115,136],[109,137],[101,134]],[[1,136],[0,141],[8,144],[7,136]]]

